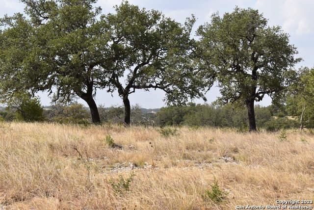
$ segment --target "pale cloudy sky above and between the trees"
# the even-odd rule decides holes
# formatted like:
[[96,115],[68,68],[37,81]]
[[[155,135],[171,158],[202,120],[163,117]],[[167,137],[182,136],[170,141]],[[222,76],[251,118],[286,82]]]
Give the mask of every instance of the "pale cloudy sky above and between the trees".
[[[103,13],[114,12],[113,6],[120,4],[122,0],[98,0],[97,5],[101,6]],[[0,17],[5,14],[13,15],[16,12],[23,12],[24,4],[19,0],[0,0]],[[268,19],[270,26],[282,26],[284,32],[290,35],[290,44],[297,47],[299,54],[297,57],[303,58],[297,67],[314,67],[314,1],[313,0],[129,0],[130,3],[161,11],[168,17],[184,23],[185,18],[194,14],[197,22],[196,28],[210,21],[212,13],[232,12],[235,6],[241,8],[254,8],[263,13]],[[41,103],[50,105],[50,98],[47,93],[39,93]],[[207,93],[207,103],[211,103],[219,96],[219,88],[212,87]],[[165,106],[163,101],[165,94],[161,90],[151,90],[149,92],[137,90],[130,95],[131,105],[141,105],[144,108],[159,108]],[[98,90],[96,95],[97,105],[122,105],[122,100],[117,92],[111,94],[105,90]],[[87,104],[79,100],[79,103]],[[203,100],[194,100],[195,103],[203,104]],[[270,98],[265,97],[260,105],[270,105]]]

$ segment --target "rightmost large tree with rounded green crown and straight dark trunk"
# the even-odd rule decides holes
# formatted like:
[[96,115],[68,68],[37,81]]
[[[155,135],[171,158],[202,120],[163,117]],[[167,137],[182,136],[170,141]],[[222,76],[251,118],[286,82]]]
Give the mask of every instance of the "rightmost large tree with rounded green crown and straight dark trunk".
[[238,7],[200,26],[201,60],[215,72],[222,103],[239,103],[248,111],[249,130],[256,131],[254,102],[274,97],[295,76],[296,48],[280,26],[267,26],[258,10]]

